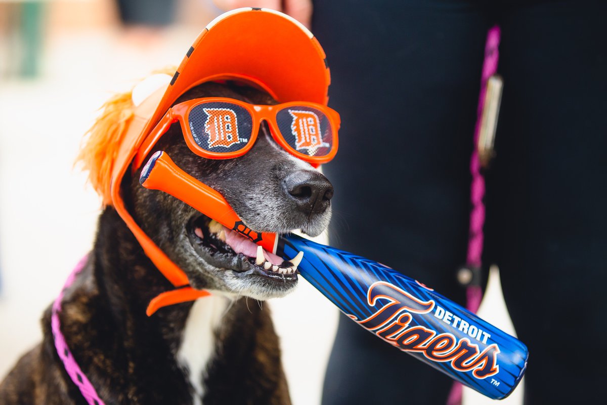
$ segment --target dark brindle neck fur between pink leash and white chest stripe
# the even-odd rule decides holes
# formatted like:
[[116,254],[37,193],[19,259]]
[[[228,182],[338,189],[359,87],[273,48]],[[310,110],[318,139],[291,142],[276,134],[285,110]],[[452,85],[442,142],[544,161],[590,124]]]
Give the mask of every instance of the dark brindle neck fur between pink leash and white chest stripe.
[[145,314],[149,300],[171,288],[114,209],[106,208],[89,262],[66,291],[61,313],[67,345],[106,403],[124,402],[124,395],[192,403],[191,384],[177,362],[192,303]]

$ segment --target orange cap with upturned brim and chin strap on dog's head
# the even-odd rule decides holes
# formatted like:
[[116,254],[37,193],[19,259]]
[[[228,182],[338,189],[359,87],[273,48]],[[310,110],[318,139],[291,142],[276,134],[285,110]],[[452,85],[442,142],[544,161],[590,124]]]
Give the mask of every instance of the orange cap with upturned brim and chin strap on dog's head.
[[[327,104],[330,74],[322,47],[300,22],[275,10],[246,7],[211,21],[189,48],[170,83],[137,102],[112,165],[109,198],[105,200],[110,200],[145,253],[175,287],[188,286],[188,277],[137,225],[124,205],[120,186],[141,143],[177,98],[198,84],[222,80],[253,84],[281,103]],[[191,301],[197,292],[205,295],[185,287],[169,291],[165,299],[171,304]]]

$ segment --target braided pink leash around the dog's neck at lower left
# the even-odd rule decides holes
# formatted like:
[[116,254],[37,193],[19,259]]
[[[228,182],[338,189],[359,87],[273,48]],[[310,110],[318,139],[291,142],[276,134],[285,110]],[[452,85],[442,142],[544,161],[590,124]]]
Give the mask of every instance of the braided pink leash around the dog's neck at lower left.
[[55,349],[57,350],[59,358],[63,361],[63,367],[65,367],[67,374],[72,378],[73,383],[80,389],[82,396],[84,396],[84,399],[89,405],[105,405],[99,398],[99,395],[97,395],[97,391],[95,391],[93,384],[86,378],[86,375],[82,372],[80,366],[78,366],[78,363],[73,358],[72,352],[70,352],[69,347],[67,347],[66,339],[64,338],[63,333],[61,333],[61,324],[59,322],[59,312],[61,311],[61,300],[63,300],[64,291],[66,291],[66,289],[75,281],[78,273],[84,268],[87,259],[88,256],[84,256],[80,259],[80,262],[76,264],[72,274],[67,277],[66,284],[63,286],[61,293],[59,293],[59,296],[55,299],[55,302],[53,302],[53,313],[51,315],[50,324],[53,330],[53,338],[55,339]]

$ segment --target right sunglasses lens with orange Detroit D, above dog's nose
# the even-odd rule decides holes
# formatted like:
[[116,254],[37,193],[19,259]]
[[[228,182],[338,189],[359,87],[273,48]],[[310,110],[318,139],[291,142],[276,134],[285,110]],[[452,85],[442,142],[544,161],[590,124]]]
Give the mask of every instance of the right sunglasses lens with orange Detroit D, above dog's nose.
[[276,114],[280,134],[295,151],[322,157],[333,148],[333,129],[324,112],[307,106],[291,106]]

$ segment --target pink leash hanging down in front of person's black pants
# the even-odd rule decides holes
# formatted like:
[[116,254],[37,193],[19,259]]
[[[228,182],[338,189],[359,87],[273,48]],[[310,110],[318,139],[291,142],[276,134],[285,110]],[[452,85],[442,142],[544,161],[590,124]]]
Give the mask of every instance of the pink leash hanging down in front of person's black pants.
[[[470,228],[468,237],[467,267],[476,274],[480,272],[481,257],[483,256],[483,226],[485,223],[485,205],[483,198],[485,196],[485,178],[481,173],[481,163],[478,159],[478,134],[481,129],[481,118],[483,117],[483,107],[485,94],[487,92],[487,81],[497,72],[497,64],[500,58],[498,47],[500,46],[500,27],[494,26],[487,32],[487,42],[485,44],[485,59],[483,62],[483,73],[481,75],[481,92],[478,95],[478,109],[476,110],[476,126],[474,129],[474,149],[470,158],[470,173],[472,174],[472,185],[470,185],[470,202],[472,210],[470,211]],[[483,299],[483,288],[480,283],[472,283],[466,290],[466,308],[476,313]],[[447,405],[460,405],[462,396],[462,385],[453,383]]]

